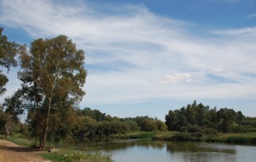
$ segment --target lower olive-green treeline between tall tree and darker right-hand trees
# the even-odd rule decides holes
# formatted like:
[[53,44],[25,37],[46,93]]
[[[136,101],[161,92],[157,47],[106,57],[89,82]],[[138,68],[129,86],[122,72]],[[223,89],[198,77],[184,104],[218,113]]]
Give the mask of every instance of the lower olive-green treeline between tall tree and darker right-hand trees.
[[133,131],[167,130],[163,121],[148,116],[118,118],[90,108],[77,110],[77,115],[82,119],[81,128],[74,132],[77,136],[104,138]]

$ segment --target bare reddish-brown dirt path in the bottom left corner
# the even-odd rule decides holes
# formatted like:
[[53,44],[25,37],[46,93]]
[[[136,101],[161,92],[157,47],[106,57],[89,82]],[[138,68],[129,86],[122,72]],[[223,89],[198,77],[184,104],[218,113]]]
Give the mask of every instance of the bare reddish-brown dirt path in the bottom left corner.
[[22,147],[7,140],[0,139],[0,161],[1,162],[43,162],[47,161],[36,155],[38,150]]

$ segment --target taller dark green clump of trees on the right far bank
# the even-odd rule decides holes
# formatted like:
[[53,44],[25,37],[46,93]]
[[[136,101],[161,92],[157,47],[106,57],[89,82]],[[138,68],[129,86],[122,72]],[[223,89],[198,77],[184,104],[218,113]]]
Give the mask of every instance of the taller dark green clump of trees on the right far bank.
[[241,111],[230,108],[209,108],[194,101],[179,110],[170,110],[165,116],[170,131],[216,134],[256,131],[256,118],[245,117]]

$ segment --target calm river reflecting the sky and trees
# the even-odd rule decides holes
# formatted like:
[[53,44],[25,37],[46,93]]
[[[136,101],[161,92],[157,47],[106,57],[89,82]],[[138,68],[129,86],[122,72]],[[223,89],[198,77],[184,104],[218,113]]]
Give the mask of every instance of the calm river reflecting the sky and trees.
[[76,148],[83,151],[112,154],[112,158],[116,162],[256,161],[255,145],[154,140],[120,140],[116,142],[76,140]]

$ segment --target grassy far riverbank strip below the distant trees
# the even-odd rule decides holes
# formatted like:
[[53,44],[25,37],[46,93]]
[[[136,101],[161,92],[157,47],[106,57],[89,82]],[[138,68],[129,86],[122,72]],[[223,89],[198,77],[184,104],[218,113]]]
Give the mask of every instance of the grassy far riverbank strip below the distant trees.
[[219,142],[219,143],[236,143],[255,145],[256,133],[189,133],[179,131],[135,131],[122,135],[111,135],[109,138],[98,139],[101,140],[118,140],[118,139],[145,139],[152,140],[170,140],[170,141],[194,141],[194,142]]

